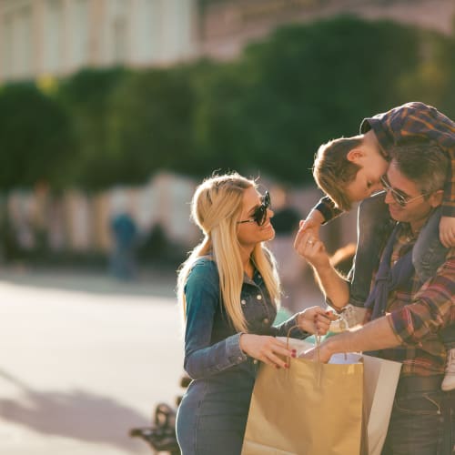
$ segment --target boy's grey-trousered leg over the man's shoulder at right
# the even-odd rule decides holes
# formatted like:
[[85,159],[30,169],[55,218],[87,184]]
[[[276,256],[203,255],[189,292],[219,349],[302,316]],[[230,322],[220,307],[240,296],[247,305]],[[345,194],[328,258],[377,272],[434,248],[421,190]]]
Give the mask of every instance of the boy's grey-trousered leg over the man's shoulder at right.
[[412,264],[422,282],[435,275],[449,250],[440,243],[440,212],[438,208],[430,216],[412,250]]

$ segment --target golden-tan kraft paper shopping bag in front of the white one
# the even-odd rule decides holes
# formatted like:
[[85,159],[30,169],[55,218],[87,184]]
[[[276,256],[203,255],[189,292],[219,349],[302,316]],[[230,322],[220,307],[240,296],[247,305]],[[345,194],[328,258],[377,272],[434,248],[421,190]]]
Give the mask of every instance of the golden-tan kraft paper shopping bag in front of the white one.
[[289,360],[258,373],[242,455],[359,454],[363,364]]

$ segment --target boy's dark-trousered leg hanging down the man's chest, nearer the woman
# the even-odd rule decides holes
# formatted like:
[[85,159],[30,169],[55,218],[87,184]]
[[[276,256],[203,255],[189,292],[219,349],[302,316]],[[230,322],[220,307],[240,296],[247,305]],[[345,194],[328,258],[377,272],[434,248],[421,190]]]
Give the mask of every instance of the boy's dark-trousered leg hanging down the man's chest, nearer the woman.
[[349,303],[355,307],[363,307],[369,296],[373,269],[379,262],[380,239],[385,230],[393,227],[389,216],[389,207],[384,202],[385,193],[364,199],[357,217],[357,250],[353,267],[349,273]]

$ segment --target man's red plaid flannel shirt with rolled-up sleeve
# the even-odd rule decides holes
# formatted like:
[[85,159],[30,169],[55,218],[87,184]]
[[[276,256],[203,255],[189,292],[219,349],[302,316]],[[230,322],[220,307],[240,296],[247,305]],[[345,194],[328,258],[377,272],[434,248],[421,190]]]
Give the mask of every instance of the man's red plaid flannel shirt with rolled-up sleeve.
[[[403,223],[391,263],[404,256],[415,241],[409,225]],[[402,345],[382,349],[380,357],[401,362],[402,376],[443,374],[447,353],[438,332],[455,322],[454,300],[455,248],[450,248],[434,278],[422,285],[414,274],[409,282],[390,292],[387,318]]]

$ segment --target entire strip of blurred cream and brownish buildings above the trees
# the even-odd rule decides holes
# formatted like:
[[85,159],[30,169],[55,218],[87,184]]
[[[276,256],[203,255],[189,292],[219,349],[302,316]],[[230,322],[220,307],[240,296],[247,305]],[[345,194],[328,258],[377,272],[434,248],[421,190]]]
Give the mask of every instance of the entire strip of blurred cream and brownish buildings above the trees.
[[0,0],[0,83],[86,66],[232,58],[278,25],[340,13],[450,34],[453,0]]

